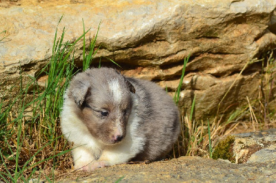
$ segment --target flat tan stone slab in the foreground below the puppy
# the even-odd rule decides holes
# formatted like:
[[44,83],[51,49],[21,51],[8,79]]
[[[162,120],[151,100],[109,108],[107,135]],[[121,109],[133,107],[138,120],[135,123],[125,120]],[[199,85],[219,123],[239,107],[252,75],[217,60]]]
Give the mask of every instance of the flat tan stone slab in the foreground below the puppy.
[[224,160],[181,157],[149,164],[119,164],[96,169],[92,173],[68,173],[57,182],[273,182],[275,180],[275,161],[232,164]]

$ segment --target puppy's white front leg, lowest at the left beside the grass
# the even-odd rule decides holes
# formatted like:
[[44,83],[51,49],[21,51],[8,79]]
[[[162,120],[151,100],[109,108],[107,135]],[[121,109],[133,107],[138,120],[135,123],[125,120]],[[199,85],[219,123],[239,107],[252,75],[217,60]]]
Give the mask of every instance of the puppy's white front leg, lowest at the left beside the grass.
[[74,159],[74,169],[81,170],[81,171],[88,171],[89,170],[89,164],[92,164],[95,162],[94,155],[85,147],[74,147],[75,149],[72,149],[72,156]]

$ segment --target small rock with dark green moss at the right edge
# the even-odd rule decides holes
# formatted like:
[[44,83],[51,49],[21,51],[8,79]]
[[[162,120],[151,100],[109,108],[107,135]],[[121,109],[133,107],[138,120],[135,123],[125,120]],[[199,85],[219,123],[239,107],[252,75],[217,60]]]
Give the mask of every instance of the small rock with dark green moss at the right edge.
[[217,144],[213,157],[235,163],[275,161],[276,129],[228,136]]

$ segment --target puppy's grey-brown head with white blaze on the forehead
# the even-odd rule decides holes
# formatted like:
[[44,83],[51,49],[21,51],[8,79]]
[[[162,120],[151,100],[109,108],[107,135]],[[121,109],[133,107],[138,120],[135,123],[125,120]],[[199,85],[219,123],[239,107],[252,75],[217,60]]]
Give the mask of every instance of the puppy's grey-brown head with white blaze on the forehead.
[[135,88],[114,69],[88,69],[72,79],[67,100],[74,100],[74,112],[92,136],[115,144],[126,136],[131,93]]

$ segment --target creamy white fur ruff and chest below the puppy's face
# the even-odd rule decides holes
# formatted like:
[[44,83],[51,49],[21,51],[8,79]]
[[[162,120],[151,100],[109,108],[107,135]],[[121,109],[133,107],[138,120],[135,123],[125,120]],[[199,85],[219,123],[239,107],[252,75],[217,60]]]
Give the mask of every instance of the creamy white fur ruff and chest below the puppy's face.
[[[116,86],[116,82],[110,84],[110,89],[116,88],[113,84]],[[120,95],[118,92],[115,93],[117,93],[115,98],[119,99]],[[134,95],[132,95],[132,100],[132,109],[135,109],[137,99]],[[65,100],[61,112],[61,130],[66,139],[74,143],[72,155],[75,168],[86,166],[99,158],[107,161],[108,165],[125,163],[144,149],[145,138],[137,133],[137,127],[141,119],[137,117],[135,110],[131,111],[128,118],[126,137],[121,142],[113,145],[104,145],[93,137],[86,125],[79,120],[74,110],[74,101]]]

